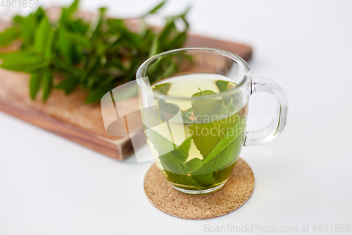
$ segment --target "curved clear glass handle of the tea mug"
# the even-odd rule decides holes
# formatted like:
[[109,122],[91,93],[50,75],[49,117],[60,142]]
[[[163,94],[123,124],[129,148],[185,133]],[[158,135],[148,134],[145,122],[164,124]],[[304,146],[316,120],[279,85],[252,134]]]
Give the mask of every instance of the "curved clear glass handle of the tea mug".
[[265,128],[260,128],[256,131],[246,132],[245,146],[263,145],[275,139],[277,135],[282,133],[286,126],[288,102],[284,90],[280,88],[274,81],[269,78],[251,78],[251,95],[254,92],[268,92],[275,96],[279,103],[278,111],[275,114],[275,119],[270,122]]

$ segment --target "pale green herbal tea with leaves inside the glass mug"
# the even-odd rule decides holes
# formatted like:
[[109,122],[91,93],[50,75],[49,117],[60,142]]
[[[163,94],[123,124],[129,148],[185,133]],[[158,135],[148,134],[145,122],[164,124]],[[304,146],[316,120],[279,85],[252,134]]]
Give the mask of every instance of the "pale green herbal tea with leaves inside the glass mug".
[[145,126],[146,139],[159,169],[184,193],[221,187],[237,163],[247,105],[239,90],[215,95],[234,86],[229,78],[210,73],[176,76],[152,86],[170,99],[156,99],[149,119],[158,125]]

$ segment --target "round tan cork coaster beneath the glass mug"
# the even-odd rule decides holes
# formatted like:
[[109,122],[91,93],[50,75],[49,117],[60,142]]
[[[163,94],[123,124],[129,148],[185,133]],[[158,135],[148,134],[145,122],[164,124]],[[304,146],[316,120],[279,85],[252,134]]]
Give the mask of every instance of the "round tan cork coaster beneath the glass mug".
[[156,164],[144,178],[144,191],[151,204],[168,215],[182,219],[210,219],[227,215],[246,203],[253,188],[253,172],[241,158],[225,185],[205,195],[188,195],[175,190]]

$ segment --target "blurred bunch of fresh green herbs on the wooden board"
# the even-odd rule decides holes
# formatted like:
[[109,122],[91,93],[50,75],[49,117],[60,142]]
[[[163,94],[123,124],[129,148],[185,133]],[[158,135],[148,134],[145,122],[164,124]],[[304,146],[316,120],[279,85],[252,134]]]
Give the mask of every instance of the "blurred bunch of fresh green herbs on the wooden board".
[[[30,97],[42,90],[44,102],[53,89],[66,94],[75,89],[87,91],[86,104],[99,102],[116,86],[134,80],[137,68],[149,56],[183,46],[187,39],[188,12],[165,19],[161,31],[145,27],[144,18],[158,12],[166,1],[139,18],[138,32],[132,32],[125,20],[106,18],[106,8],[92,23],[75,16],[79,0],[63,7],[61,18],[50,22],[42,8],[29,16],[15,16],[11,28],[0,32],[0,47],[14,40],[21,42],[15,52],[1,53],[1,68],[31,73]],[[176,21],[184,23],[178,30]],[[54,76],[61,74],[61,80]]]

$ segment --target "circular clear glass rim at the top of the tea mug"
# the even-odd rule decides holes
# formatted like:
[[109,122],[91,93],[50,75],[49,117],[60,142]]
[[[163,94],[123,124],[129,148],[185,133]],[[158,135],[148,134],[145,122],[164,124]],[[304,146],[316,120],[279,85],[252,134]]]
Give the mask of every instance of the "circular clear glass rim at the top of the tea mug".
[[180,49],[173,49],[173,50],[166,51],[166,52],[161,52],[159,54],[156,54],[155,56],[152,56],[151,58],[147,59],[146,61],[144,61],[144,63],[141,66],[139,66],[137,73],[136,73],[136,78],[137,78],[136,80],[137,80],[137,84],[139,85],[139,87],[144,89],[144,91],[146,91],[146,92],[151,91],[150,86],[143,79],[139,79],[139,78],[145,77],[146,68],[148,68],[149,64],[151,64],[151,62],[153,62],[154,59],[157,59],[160,56],[164,56],[164,55],[172,54],[172,53],[176,53],[176,52],[182,52],[182,51],[218,52],[218,54],[225,55],[228,58],[236,61],[237,64],[239,64],[240,66],[242,66],[242,68],[244,70],[244,76],[243,76],[241,82],[238,83],[237,85],[235,85],[234,87],[232,87],[230,90],[220,92],[220,93],[214,94],[214,95],[207,95],[206,97],[180,97],[180,96],[163,95],[163,94],[160,94],[157,92],[153,92],[154,97],[161,99],[161,100],[165,100],[166,98],[171,99],[171,100],[208,100],[208,99],[212,99],[214,97],[218,97],[219,95],[221,95],[221,96],[222,95],[232,95],[232,93],[237,92],[237,90],[241,89],[242,85],[244,85],[247,80],[251,80],[251,78],[249,77],[249,73],[250,73],[249,65],[240,56],[237,56],[236,54],[233,54],[231,52],[226,52],[221,49],[214,49],[214,48],[207,48],[207,47],[189,47],[189,48],[180,48]]

